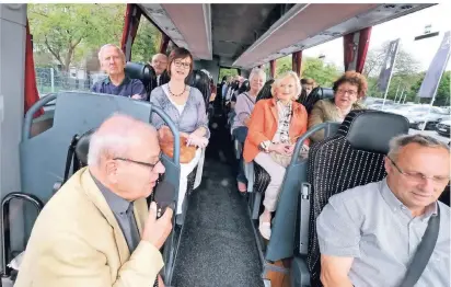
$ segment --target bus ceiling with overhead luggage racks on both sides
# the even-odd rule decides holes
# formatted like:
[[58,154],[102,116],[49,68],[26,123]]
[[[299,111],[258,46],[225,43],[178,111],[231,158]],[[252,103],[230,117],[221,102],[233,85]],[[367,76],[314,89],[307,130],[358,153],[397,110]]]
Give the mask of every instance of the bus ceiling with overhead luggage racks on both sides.
[[433,3],[153,4],[136,8],[196,59],[250,69]]

